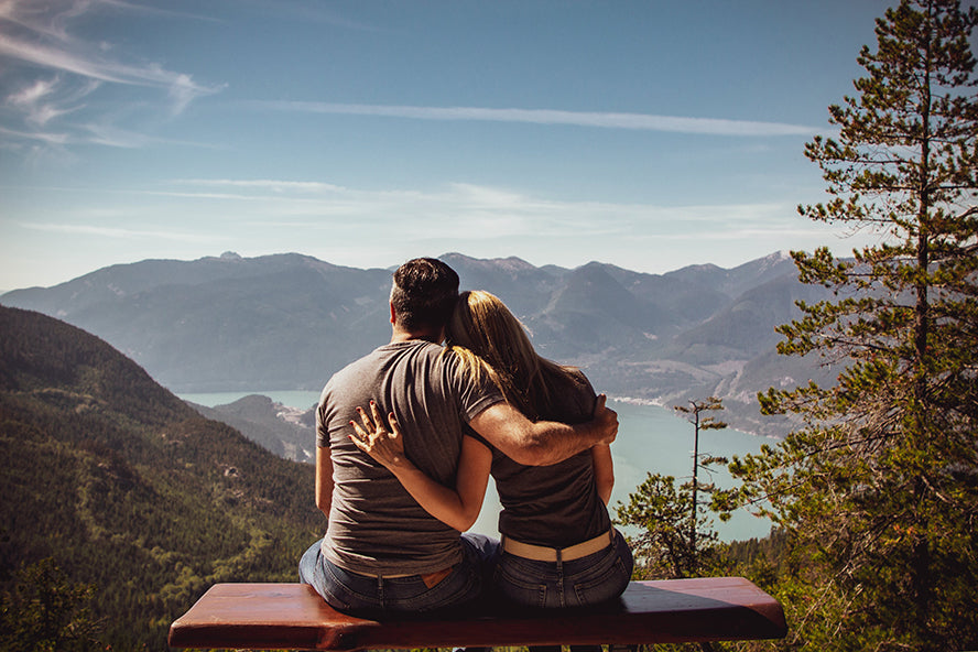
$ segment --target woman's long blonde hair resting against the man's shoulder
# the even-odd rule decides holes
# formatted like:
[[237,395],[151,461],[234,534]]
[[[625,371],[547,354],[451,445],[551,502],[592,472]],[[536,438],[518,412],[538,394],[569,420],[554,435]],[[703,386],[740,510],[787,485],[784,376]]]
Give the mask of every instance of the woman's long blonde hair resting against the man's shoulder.
[[536,355],[520,320],[497,296],[481,290],[459,294],[445,339],[465,372],[477,379],[489,374],[507,402],[533,421],[551,406],[548,378],[570,373],[569,368]]

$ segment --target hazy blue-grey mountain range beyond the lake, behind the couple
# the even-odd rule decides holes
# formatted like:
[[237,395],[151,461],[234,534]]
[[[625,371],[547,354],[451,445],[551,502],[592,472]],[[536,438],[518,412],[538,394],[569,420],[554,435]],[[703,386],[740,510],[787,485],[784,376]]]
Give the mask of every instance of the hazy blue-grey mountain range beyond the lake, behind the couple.
[[[741,430],[778,434],[756,393],[828,371],[778,356],[774,327],[817,301],[792,260],[772,253],[734,269],[646,274],[591,262],[568,270],[517,258],[441,257],[463,289],[500,296],[546,357],[582,367],[599,391],[672,405],[710,394]],[[112,265],[53,287],[9,292],[95,334],[176,392],[318,390],[390,338],[390,270],[298,253]]]

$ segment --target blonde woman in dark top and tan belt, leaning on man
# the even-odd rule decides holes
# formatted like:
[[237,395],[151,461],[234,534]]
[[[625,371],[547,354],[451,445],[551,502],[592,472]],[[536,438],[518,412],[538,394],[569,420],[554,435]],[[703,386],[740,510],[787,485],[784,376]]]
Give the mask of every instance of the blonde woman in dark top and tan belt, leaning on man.
[[[582,423],[596,395],[577,369],[541,358],[522,324],[488,292],[464,292],[446,330],[446,355],[464,372],[489,374],[507,401],[531,420]],[[470,432],[463,443],[455,488],[421,474],[403,455],[396,417],[391,433],[371,405],[354,424],[360,449],[389,468],[432,515],[459,531],[479,514],[491,472],[502,503],[501,556],[493,584],[526,607],[559,608],[616,598],[628,586],[632,556],[611,528],[607,503],[613,485],[610,447],[596,446],[561,464],[517,464]]]

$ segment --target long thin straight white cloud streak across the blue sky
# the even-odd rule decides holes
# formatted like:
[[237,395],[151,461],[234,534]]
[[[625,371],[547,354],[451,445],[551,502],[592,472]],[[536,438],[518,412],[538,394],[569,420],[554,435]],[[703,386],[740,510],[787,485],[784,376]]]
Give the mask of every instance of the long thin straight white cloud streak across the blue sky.
[[471,120],[492,122],[523,122],[533,124],[567,124],[602,129],[634,129],[675,133],[702,133],[713,135],[776,137],[812,135],[818,128],[783,122],[727,120],[720,118],[689,118],[649,113],[619,113],[596,111],[563,111],[551,109],[496,109],[482,107],[416,107],[387,105],[354,105],[312,101],[248,102],[254,108],[306,113],[335,113],[347,116],[373,116],[381,118],[408,118],[414,120]]

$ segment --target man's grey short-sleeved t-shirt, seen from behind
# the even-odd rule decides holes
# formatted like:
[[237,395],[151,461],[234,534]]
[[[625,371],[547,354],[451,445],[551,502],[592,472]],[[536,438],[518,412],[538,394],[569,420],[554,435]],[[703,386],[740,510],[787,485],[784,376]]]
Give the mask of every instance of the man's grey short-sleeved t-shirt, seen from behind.
[[463,427],[502,395],[458,373],[458,359],[412,339],[376,349],[337,372],[316,410],[316,444],[333,459],[333,504],[323,553],[347,570],[424,574],[461,561],[459,532],[428,514],[398,479],[349,439],[357,406],[393,412],[404,452],[424,474],[455,487]]

